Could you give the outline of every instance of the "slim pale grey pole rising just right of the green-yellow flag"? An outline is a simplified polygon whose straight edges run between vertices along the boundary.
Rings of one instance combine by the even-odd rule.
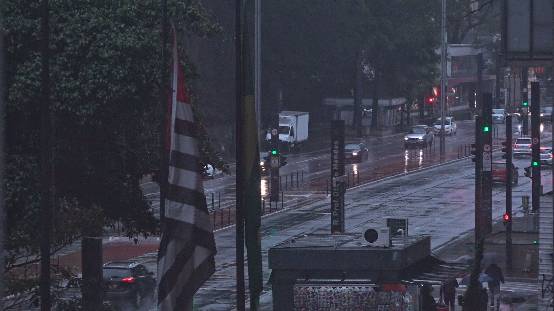
[[[260,0],[254,1],[254,104],[258,129],[261,128],[261,4]],[[261,146],[258,133],[258,146]]]

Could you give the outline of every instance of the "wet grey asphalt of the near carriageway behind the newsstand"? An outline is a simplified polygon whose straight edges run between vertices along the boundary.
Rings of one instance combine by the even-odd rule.
[[[460,134],[459,137],[463,137]],[[472,135],[468,134],[466,139]],[[459,142],[451,143],[455,146]],[[550,146],[551,143],[551,137],[542,139],[545,146]],[[383,151],[376,154],[381,152]],[[500,159],[500,152],[495,152],[493,157]],[[531,192],[530,179],[524,176],[523,170],[529,163],[530,159],[526,157],[514,159],[514,164],[520,168],[519,184],[512,190],[515,212],[521,212],[521,208],[517,207],[521,205],[521,195],[529,195]],[[541,175],[545,191],[552,189],[551,172],[550,167],[543,167]],[[429,235],[432,249],[437,250],[474,228],[474,197],[474,163],[470,158],[422,169],[383,182],[356,186],[349,189],[346,194],[346,231],[361,232],[362,226],[379,224],[383,216],[409,217],[410,234]],[[294,236],[329,233],[329,207],[330,200],[324,199],[301,208],[284,209],[263,217],[261,242],[264,284],[268,281],[270,273],[267,265],[269,248]],[[499,218],[504,212],[505,189],[504,184],[499,183],[493,188],[493,217]],[[235,227],[216,230],[215,235],[218,247],[216,273],[197,292],[195,307],[199,310],[233,310],[236,282]],[[270,287],[264,287],[260,310],[271,310]]]

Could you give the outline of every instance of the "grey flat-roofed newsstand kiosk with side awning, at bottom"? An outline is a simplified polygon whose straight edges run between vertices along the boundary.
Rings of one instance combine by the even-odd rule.
[[[362,245],[360,234],[304,235],[269,249],[273,311],[418,311],[424,285],[469,265],[431,256],[429,236]]]

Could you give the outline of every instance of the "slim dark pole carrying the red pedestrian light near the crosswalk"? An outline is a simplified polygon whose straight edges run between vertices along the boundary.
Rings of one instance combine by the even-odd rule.
[[[512,268],[512,116],[506,117],[506,148],[502,157],[506,157],[506,269]]]

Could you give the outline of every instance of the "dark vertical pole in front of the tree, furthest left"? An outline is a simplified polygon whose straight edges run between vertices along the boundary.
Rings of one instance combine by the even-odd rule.
[[[50,14],[48,0],[41,1],[40,35],[40,311],[50,311],[50,245],[52,244],[52,116],[50,116]]]

